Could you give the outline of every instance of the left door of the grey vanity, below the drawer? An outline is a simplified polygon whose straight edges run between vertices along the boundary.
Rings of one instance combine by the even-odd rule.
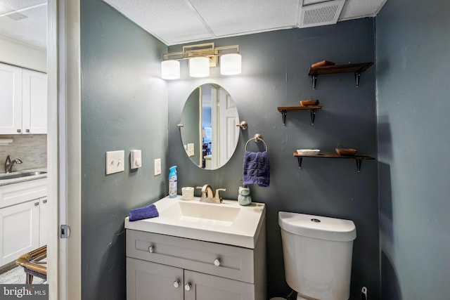
[[[183,292],[183,269],[127,257],[127,300],[183,300]]]

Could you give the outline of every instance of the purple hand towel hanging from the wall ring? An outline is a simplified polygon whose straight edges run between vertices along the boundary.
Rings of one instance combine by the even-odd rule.
[[[243,184],[257,184],[267,187],[270,183],[269,155],[264,152],[245,151]]]

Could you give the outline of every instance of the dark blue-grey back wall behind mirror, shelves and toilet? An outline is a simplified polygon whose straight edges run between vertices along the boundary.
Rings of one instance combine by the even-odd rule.
[[[286,296],[278,211],[350,219],[356,224],[352,264],[351,299],[360,299],[366,286],[369,299],[380,299],[378,244],[378,164],[363,162],[356,171],[354,160],[304,159],[299,169],[293,152],[299,148],[334,152],[336,147],[356,148],[377,156],[375,65],[361,75],[355,86],[354,74],[319,77],[312,89],[308,70],[311,63],[331,60],[337,64],[375,61],[373,18],[339,22],[337,25],[302,30],[281,30],[243,37],[217,39],[216,46],[240,45],[242,74],[219,75],[211,69],[207,79],[188,77],[187,63],[181,62],[181,79],[169,81],[169,164],[178,166],[179,193],[182,186],[209,183],[226,188],[221,195],[236,200],[242,183],[245,143],[260,133],[269,146],[271,183],[269,188],[250,185],[255,202],[266,204],[267,266],[269,296]],[[179,51],[181,46],[170,46]],[[240,120],[248,122],[241,131],[236,152],[220,169],[196,167],[184,153],[179,123],[184,102],[196,86],[212,82],[228,91],[238,107]],[[299,100],[320,100],[311,126],[308,112],[288,112],[283,126],[278,106],[300,105]],[[249,150],[261,145],[249,144]],[[200,195],[196,192],[196,195]]]

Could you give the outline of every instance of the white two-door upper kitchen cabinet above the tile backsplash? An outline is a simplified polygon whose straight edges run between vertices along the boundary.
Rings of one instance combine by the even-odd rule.
[[[46,74],[0,63],[0,134],[47,133]]]

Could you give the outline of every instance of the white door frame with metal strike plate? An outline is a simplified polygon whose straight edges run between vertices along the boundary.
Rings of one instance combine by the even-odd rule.
[[[49,299],[81,299],[80,0],[49,0],[47,25]],[[60,238],[60,225],[70,235]],[[70,284],[69,284],[70,282]]]

